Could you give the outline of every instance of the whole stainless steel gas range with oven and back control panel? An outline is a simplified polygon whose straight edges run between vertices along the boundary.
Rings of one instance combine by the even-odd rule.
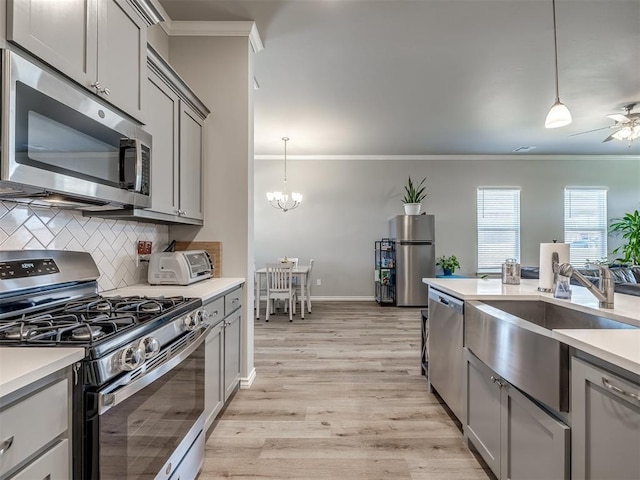
[[[168,479],[204,457],[207,314],[199,298],[99,295],[99,275],[85,252],[0,251],[0,347],[85,349],[73,368],[74,478]]]

